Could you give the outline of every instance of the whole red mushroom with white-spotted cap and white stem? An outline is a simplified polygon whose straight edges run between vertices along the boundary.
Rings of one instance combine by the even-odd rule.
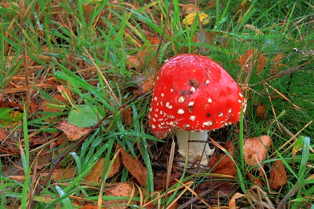
[[[207,143],[188,140],[207,140],[208,131],[236,123],[243,113],[246,99],[235,80],[226,70],[208,57],[180,54],[161,66],[153,87],[149,123],[155,135],[164,139],[173,132],[179,153],[189,153],[191,161],[200,160]],[[203,157],[201,164],[207,164]]]

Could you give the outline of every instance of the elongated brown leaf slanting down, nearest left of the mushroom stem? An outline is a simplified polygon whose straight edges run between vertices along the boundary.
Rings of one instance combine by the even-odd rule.
[[[122,162],[128,171],[135,177],[141,186],[146,186],[147,168],[139,162],[139,160],[133,158],[123,149],[121,149],[121,156]]]

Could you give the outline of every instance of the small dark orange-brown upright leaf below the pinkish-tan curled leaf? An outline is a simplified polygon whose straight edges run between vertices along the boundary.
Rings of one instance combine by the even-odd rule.
[[[280,186],[283,186],[287,183],[287,172],[284,166],[284,163],[280,161],[275,161],[273,166],[271,166],[269,172],[269,185],[273,189],[278,189]]]

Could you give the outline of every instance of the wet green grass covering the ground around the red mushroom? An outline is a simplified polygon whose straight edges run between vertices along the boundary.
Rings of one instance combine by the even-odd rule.
[[[238,170],[236,180],[233,180],[234,189],[228,191],[228,195],[220,198],[220,201],[212,192],[203,197],[204,201],[210,206],[217,206],[218,203],[219,207],[227,206],[235,192],[240,192],[246,196],[240,199],[242,201],[236,201],[236,206],[259,205],[249,195],[257,193],[257,190],[252,189],[254,184],[248,178],[247,171],[261,179],[269,178],[271,165],[280,159],[287,171],[288,182],[280,190],[275,190],[268,188],[266,180],[262,181],[260,188],[269,201],[274,207],[314,207],[311,167],[314,160],[311,151],[314,148],[314,128],[310,124],[314,117],[313,2],[198,1],[198,9],[209,14],[210,20],[202,28],[197,19],[191,25],[181,23],[183,2],[174,0],[171,8],[169,3],[167,0],[141,0],[136,3],[25,0],[22,1],[23,5],[9,0],[1,2],[1,102],[12,101],[24,107],[28,104],[25,88],[27,70],[27,79],[34,90],[28,92],[31,101],[37,105],[47,101],[47,106],[57,111],[36,107],[27,112],[24,108],[23,122],[3,129],[9,136],[0,144],[0,208],[70,209],[91,202],[100,204],[101,200],[119,199],[103,191],[109,184],[134,181],[124,166],[114,176],[109,174],[114,159],[119,158],[116,155],[119,146],[137,157],[148,170],[147,185],[120,199],[131,198],[133,202],[129,203],[130,207],[141,208],[143,199],[147,203],[153,198],[149,195],[156,197],[154,177],[165,171],[164,167],[167,166],[159,161],[160,154],[163,155],[160,148],[167,139],[157,139],[149,128],[147,116],[151,92],[136,92],[143,82],[137,78],[153,75],[156,66],[181,52],[202,53],[221,64],[238,81],[248,98],[244,124],[240,124],[239,131],[233,126],[210,134],[216,141],[231,141],[235,145],[234,161]],[[166,19],[167,14],[169,20]],[[210,40],[195,42],[193,36],[200,31],[211,32],[214,43]],[[22,33],[26,54],[23,53]],[[158,43],[152,42],[158,39],[161,40],[159,53]],[[257,51],[254,53],[261,52],[265,57],[261,71],[258,71],[257,63],[249,68],[251,71],[243,71],[244,68],[238,64],[239,57],[249,49],[255,49]],[[273,57],[278,54],[282,57],[274,61]],[[138,60],[136,65],[130,64],[129,56]],[[300,70],[271,79],[267,84],[254,85],[273,76],[276,73],[274,70],[281,72],[297,66]],[[62,92],[57,86],[64,86],[70,92]],[[55,99],[58,92],[63,93],[64,101]],[[256,113],[259,103],[266,107],[263,118]],[[59,168],[75,168],[76,176],[57,181],[52,178],[53,181],[48,181],[46,186],[41,187],[40,193],[36,193],[38,186],[46,180],[36,174],[48,173],[52,168],[47,161],[40,164],[40,153],[55,161],[76,145],[77,142],[68,139],[55,145],[62,138],[56,126],[76,109],[76,105],[81,104],[89,105],[99,119],[105,116],[105,122],[71,151],[71,155],[66,155],[59,162]],[[127,119],[128,116],[131,117]],[[302,131],[296,136],[298,140],[292,139],[281,148],[291,138],[287,130],[292,135]],[[44,143],[36,146],[29,143],[32,137],[40,135],[44,135]],[[243,137],[262,135],[269,135],[273,142],[269,157],[263,162],[266,163],[265,175],[254,172],[243,163],[243,154],[237,154],[243,150]],[[293,144],[294,141],[299,147]],[[271,154],[273,156],[270,157]],[[102,170],[102,181],[100,184],[86,184],[84,176],[103,157],[104,168],[108,165],[109,169]],[[24,179],[19,181],[6,176],[6,168],[15,167],[12,162],[22,162],[20,167],[23,171],[10,175],[23,176]],[[178,179],[184,183],[194,179],[193,189],[202,182],[210,182],[208,171],[191,174],[190,170],[185,169]],[[225,179],[221,179],[221,182],[225,182]],[[169,187],[169,191],[174,189],[174,192],[167,198],[167,205],[174,203],[178,195],[181,197],[178,204],[192,198],[191,191],[187,188],[179,190],[179,186],[181,184],[177,183]],[[215,189],[219,190],[219,187]],[[143,197],[139,195],[140,191]],[[83,197],[80,199],[81,205],[78,202],[74,204],[78,197]],[[267,202],[261,196],[259,198]],[[160,204],[163,205],[164,201],[165,198],[161,196]],[[243,201],[248,201],[248,204]],[[154,204],[158,204],[157,201]],[[206,205],[204,202],[202,204]]]

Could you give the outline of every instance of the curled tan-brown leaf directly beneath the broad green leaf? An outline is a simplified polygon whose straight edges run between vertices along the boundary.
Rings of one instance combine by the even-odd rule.
[[[76,141],[81,139],[93,127],[78,128],[78,126],[69,123],[67,120],[61,120],[56,128],[63,131],[71,141]]]

